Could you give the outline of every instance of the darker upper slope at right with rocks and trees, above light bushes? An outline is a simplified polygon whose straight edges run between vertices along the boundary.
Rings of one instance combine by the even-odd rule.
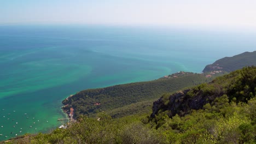
[[[207,104],[213,106],[223,103],[218,99],[228,98],[235,103],[247,103],[255,97],[256,67],[245,67],[228,75],[217,77],[210,83],[203,83],[172,95],[164,95],[154,102],[152,117],[159,112],[168,111],[168,116],[185,116],[193,110],[203,109]],[[217,102],[218,101],[218,102]]]

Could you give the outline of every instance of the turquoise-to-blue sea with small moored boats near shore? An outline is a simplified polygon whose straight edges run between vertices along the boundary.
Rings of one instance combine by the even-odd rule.
[[[256,50],[255,33],[108,26],[0,26],[0,141],[46,133],[78,91],[201,73]]]

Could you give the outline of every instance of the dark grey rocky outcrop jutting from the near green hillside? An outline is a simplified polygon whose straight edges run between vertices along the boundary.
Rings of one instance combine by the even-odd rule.
[[[217,89],[220,90],[220,88]],[[176,114],[184,116],[191,110],[202,109],[203,105],[211,104],[214,99],[224,94],[223,91],[216,91],[216,89],[214,91],[215,93],[209,94],[203,89],[187,89],[170,95],[168,99],[161,97],[153,103],[151,117],[154,118],[160,110],[168,111],[168,116],[173,117]]]

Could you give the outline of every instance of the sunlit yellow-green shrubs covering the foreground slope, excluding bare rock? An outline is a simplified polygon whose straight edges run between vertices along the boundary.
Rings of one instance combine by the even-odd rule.
[[[174,109],[175,114],[165,108],[172,107],[173,97],[177,103],[182,99],[165,94],[154,117],[145,113],[113,119],[100,112],[96,118],[80,116],[66,129],[10,143],[256,143],[255,85],[256,67],[246,67],[184,90],[185,102],[205,99],[200,109],[185,103],[188,111]]]

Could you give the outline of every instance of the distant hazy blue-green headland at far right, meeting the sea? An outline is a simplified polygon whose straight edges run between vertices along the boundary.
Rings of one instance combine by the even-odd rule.
[[[229,73],[231,71],[252,65],[256,65],[256,51],[244,52],[233,57],[224,57],[219,59],[213,64],[207,65],[205,69],[203,69],[203,73],[219,70]]]

